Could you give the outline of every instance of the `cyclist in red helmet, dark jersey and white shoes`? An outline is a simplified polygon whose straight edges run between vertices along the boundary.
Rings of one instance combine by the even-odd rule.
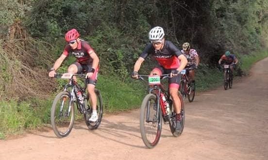
[[[68,44],[50,69],[49,76],[54,77],[56,70],[61,66],[67,56],[74,55],[77,61],[68,67],[68,73],[76,74],[86,72],[86,77],[88,78],[87,91],[93,108],[92,116],[89,118],[89,121],[96,122],[98,120],[97,96],[94,92],[94,88],[99,71],[99,57],[86,41],[80,39],[80,34],[76,29],[68,31],[65,34],[65,40]]]

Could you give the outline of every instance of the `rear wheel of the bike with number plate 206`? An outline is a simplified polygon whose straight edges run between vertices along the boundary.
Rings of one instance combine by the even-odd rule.
[[[182,128],[180,131],[176,131],[176,113],[174,111],[174,107],[172,105],[171,108],[171,119],[169,121],[169,128],[171,133],[173,134],[174,137],[179,137],[184,130],[184,122],[185,122],[185,109],[184,109],[184,101],[183,101],[183,96],[181,95],[180,92],[178,92],[178,96],[181,100],[181,106],[182,106],[182,110],[181,110],[181,114],[182,114]]]

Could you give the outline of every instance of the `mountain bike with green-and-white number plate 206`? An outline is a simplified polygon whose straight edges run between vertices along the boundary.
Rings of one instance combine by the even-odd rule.
[[[176,113],[172,106],[172,99],[169,91],[165,90],[161,84],[161,80],[170,77],[170,74],[161,76],[139,75],[140,80],[144,77],[149,81],[149,94],[144,97],[140,107],[140,131],[144,144],[148,148],[153,148],[158,144],[161,136],[162,121],[164,124],[169,124],[169,128],[174,137],[182,134],[184,129],[184,102],[183,97],[178,92],[181,100],[182,128],[180,131],[175,131],[176,128]]]

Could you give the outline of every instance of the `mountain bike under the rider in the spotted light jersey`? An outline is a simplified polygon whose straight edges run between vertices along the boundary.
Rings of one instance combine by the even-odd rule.
[[[195,68],[185,68],[181,71],[181,83],[179,91],[181,92],[183,99],[185,99],[186,96],[188,96],[189,102],[192,102],[195,98],[195,81],[193,80],[191,83],[189,83],[189,78],[187,74],[190,70],[194,70]]]

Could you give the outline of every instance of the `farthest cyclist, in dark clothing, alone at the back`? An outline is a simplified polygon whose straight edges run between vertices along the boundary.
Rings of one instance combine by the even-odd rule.
[[[237,58],[234,56],[234,54],[231,54],[230,51],[226,51],[225,54],[223,54],[220,59],[218,60],[218,64],[234,64],[230,66],[230,70],[232,71],[232,75],[234,72],[234,67],[236,66],[236,64],[238,63]]]

